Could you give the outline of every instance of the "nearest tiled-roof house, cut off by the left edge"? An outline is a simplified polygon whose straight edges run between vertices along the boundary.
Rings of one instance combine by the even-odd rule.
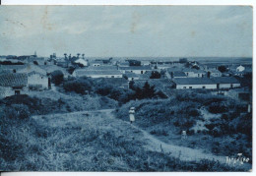
[[[28,75],[8,73],[0,75],[0,97],[28,94]]]

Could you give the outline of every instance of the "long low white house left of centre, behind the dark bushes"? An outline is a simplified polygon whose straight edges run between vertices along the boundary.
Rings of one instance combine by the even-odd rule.
[[[122,78],[123,75],[118,70],[105,70],[105,71],[89,71],[84,69],[75,70],[74,77],[91,77],[91,78]]]

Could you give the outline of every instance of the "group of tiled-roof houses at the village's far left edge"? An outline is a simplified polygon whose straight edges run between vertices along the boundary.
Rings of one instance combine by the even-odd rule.
[[[0,97],[51,88],[50,73],[55,70],[62,70],[68,77],[65,69],[55,65],[0,65]]]

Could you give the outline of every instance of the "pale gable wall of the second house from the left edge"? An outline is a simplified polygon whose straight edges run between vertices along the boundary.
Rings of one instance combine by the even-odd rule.
[[[48,88],[48,78],[40,76],[39,74],[33,74],[28,77],[28,85],[40,86],[41,88]]]

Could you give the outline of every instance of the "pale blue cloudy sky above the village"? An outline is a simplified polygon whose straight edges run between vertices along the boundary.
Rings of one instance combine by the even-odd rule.
[[[250,6],[0,6],[0,55],[252,57]]]

